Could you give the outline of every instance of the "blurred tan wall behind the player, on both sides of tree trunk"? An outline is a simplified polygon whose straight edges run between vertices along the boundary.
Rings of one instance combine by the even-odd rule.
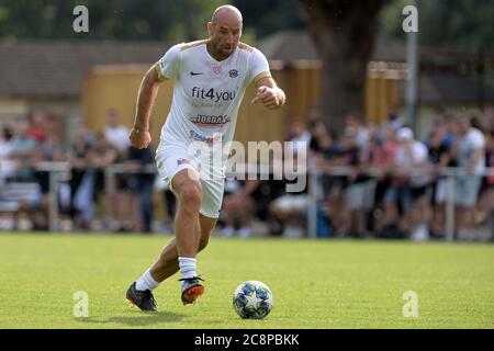
[[[105,124],[105,112],[115,109],[121,122],[132,126],[135,103],[141,80],[148,66],[103,66],[94,67],[86,77],[82,89],[82,110],[93,131]],[[279,111],[268,111],[260,104],[250,105],[256,93],[250,86],[238,113],[235,139],[272,141],[283,139],[294,120],[306,120],[316,107],[319,91],[319,68],[299,66],[284,69],[272,68],[273,78],[284,89],[287,106]],[[165,81],[160,88],[151,114],[153,145],[156,147],[162,123],[171,104],[172,81]],[[396,83],[383,78],[369,78],[367,83],[366,113],[375,122],[385,118],[386,106],[396,103]]]

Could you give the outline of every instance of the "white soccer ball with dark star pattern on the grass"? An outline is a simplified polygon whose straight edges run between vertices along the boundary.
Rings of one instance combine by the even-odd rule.
[[[272,293],[258,281],[247,281],[238,285],[233,296],[234,309],[244,319],[262,319],[272,308]]]

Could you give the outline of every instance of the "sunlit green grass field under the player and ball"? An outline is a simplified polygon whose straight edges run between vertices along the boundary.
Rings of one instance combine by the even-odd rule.
[[[128,284],[169,239],[0,234],[0,328],[494,328],[493,245],[213,237],[195,306],[181,305],[176,275],[155,293],[159,313],[131,308]],[[271,287],[265,320],[235,314],[244,280]],[[88,318],[72,315],[78,291]],[[418,317],[403,316],[406,291]]]

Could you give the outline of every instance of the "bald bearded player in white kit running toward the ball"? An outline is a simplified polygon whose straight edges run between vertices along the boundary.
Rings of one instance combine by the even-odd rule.
[[[127,290],[127,299],[143,310],[156,310],[153,296],[159,283],[180,271],[181,301],[194,304],[204,293],[197,273],[197,254],[214,228],[224,189],[224,166],[228,150],[221,149],[221,162],[212,176],[203,177],[201,155],[217,155],[217,143],[232,141],[242,99],[250,83],[257,87],[251,103],[279,109],[284,92],[271,78],[266,57],[239,42],[242,13],[232,5],[214,11],[207,23],[210,38],[171,47],[145,75],[137,98],[137,111],[130,139],[146,148],[150,143],[149,115],[159,83],[175,80],[173,99],[156,151],[159,176],[178,200],[175,238],[162,249],[156,263]],[[192,147],[193,146],[193,147]],[[225,157],[226,156],[226,157]],[[207,165],[209,167],[210,165]],[[211,176],[211,174],[209,174]]]

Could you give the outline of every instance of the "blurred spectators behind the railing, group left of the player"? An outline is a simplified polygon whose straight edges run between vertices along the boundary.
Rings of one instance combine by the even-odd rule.
[[[0,205],[9,201],[9,184],[37,184],[38,196],[16,199],[20,208],[15,216],[25,214],[32,230],[47,230],[52,169],[50,163],[42,165],[64,162],[69,167],[67,179],[58,184],[57,210],[60,218],[70,222],[70,229],[151,231],[155,174],[145,167],[154,165],[153,150],[130,145],[128,129],[113,110],[108,111],[106,124],[97,133],[79,120],[68,145],[61,126],[57,115],[33,111],[25,121],[2,127]],[[123,168],[108,177],[109,167],[114,165]]]

